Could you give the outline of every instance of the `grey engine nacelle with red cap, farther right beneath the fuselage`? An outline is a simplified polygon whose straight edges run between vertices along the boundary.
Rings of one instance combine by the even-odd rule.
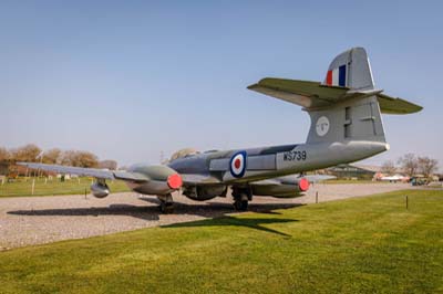
[[[303,196],[309,189],[306,178],[281,177],[272,181],[257,182],[250,185],[254,196],[271,196],[276,198],[295,198]]]

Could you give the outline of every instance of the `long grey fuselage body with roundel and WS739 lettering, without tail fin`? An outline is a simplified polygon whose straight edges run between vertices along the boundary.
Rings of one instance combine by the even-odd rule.
[[[389,149],[385,143],[343,141],[282,145],[208,151],[168,164],[177,172],[212,176],[224,183],[241,183],[361,160]],[[236,156],[239,155],[238,158]],[[237,162],[235,160],[238,160]],[[238,164],[238,169],[236,169]],[[237,172],[238,171],[238,172]]]

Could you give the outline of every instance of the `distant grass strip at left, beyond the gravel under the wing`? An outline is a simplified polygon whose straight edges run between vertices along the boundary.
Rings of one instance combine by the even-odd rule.
[[[61,182],[59,179],[48,180],[44,178],[35,178],[34,196],[53,196],[53,195],[81,195],[86,189],[90,192],[92,178],[71,179]],[[130,189],[123,181],[106,181],[111,192],[123,192]],[[32,178],[19,179],[14,182],[0,182],[0,198],[16,196],[32,196]]]

